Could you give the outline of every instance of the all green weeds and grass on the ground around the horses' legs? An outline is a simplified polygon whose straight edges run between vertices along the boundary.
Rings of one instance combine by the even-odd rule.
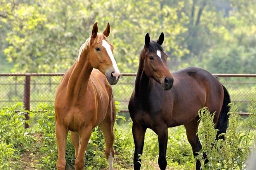
[[[116,109],[119,105],[116,102]],[[247,157],[256,148],[256,101],[249,106],[249,117],[241,118],[234,104],[231,104],[229,127],[224,134],[226,140],[215,140],[213,114],[206,108],[199,112],[201,126],[199,137],[202,150],[198,159],[202,160],[202,152],[208,156],[209,163],[203,169],[243,169],[247,165]],[[15,110],[22,110],[15,112]],[[36,111],[37,110],[37,111]],[[39,111],[38,111],[39,110]],[[5,107],[0,110],[0,169],[24,169],[24,164],[36,169],[55,169],[57,161],[57,142],[55,138],[54,108],[41,104],[29,112],[31,117],[29,129],[24,129],[24,110],[21,104]],[[15,118],[15,119],[14,119]],[[119,114],[114,125],[114,167],[117,169],[132,169],[133,137],[131,120]],[[184,127],[168,129],[167,147],[168,168],[173,170],[194,169],[192,150],[187,141]],[[102,169],[107,167],[104,155],[105,142],[100,128],[93,129],[85,155],[86,169]],[[24,156],[29,155],[31,162],[24,162]],[[145,134],[142,169],[156,169],[158,158],[157,135],[152,130]],[[74,147],[70,135],[67,137],[66,166],[74,168]],[[203,164],[202,164],[203,165]]]

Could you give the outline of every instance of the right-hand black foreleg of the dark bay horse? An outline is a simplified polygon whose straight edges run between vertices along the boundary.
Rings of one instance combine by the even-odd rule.
[[[159,144],[159,157],[158,165],[161,170],[165,170],[167,166],[166,150],[168,142],[168,129],[167,127],[157,128],[158,144]]]

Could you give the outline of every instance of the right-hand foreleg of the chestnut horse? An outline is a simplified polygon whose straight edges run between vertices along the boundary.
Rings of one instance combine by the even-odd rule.
[[[86,151],[91,134],[92,134],[92,126],[86,126],[84,128],[80,128],[79,148],[78,148],[78,154],[75,160],[76,170],[82,170],[84,167],[85,151]]]

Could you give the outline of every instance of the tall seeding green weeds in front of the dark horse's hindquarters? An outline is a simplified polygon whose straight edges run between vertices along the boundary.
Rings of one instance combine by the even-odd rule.
[[[214,114],[211,114],[206,107],[199,110],[201,126],[198,134],[201,136],[202,150],[199,151],[197,159],[201,161],[202,169],[244,169],[248,164],[249,153],[256,148],[255,100],[252,100],[252,104],[249,106],[250,116],[245,120],[239,116],[234,103],[229,105],[231,109],[227,133],[220,134],[225,136],[225,141],[223,139],[215,140],[217,130],[214,129],[213,124]],[[245,129],[244,131],[241,131],[241,126],[242,129]],[[203,153],[206,153],[209,160],[205,165],[203,164]]]

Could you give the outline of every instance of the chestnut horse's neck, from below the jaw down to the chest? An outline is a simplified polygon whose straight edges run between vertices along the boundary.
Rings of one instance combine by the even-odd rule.
[[[80,58],[75,61],[73,66],[68,70],[67,92],[73,97],[78,97],[85,91],[93,67],[89,61],[89,49],[83,51]]]

